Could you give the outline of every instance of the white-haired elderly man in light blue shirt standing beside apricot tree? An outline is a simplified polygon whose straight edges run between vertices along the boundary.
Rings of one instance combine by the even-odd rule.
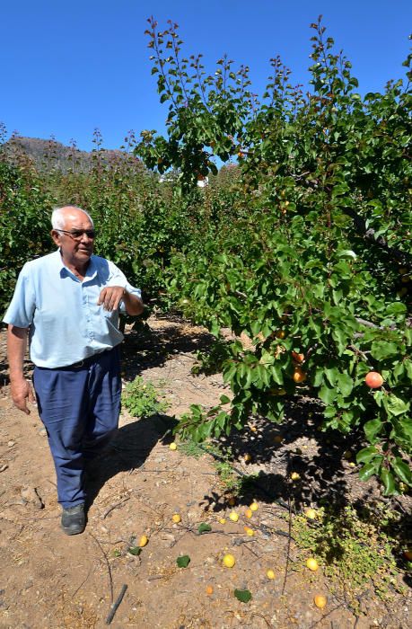
[[[84,468],[118,428],[118,311],[141,314],[140,291],[110,261],[93,255],[96,233],[81,208],[54,210],[57,251],[27,262],[4,315],[14,405],[34,402],[23,376],[29,332],[39,415],[56,466],[61,526],[85,527]]]

